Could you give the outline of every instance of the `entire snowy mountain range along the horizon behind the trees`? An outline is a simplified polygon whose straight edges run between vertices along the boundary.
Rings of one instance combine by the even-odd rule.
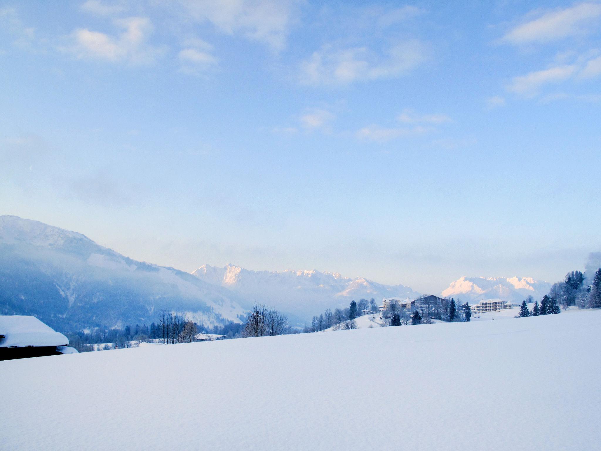
[[[551,284],[532,278],[461,277],[442,292],[462,302],[540,299]],[[192,274],[138,262],[81,233],[17,216],[0,216],[0,314],[33,314],[53,328],[79,330],[150,324],[163,306],[205,325],[243,322],[254,302],[303,324],[353,299],[419,296],[336,272],[252,271],[200,266]]]

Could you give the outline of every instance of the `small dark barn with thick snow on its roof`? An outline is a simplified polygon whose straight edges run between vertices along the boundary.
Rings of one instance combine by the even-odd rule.
[[[69,339],[35,316],[0,316],[0,360],[73,354]]]

